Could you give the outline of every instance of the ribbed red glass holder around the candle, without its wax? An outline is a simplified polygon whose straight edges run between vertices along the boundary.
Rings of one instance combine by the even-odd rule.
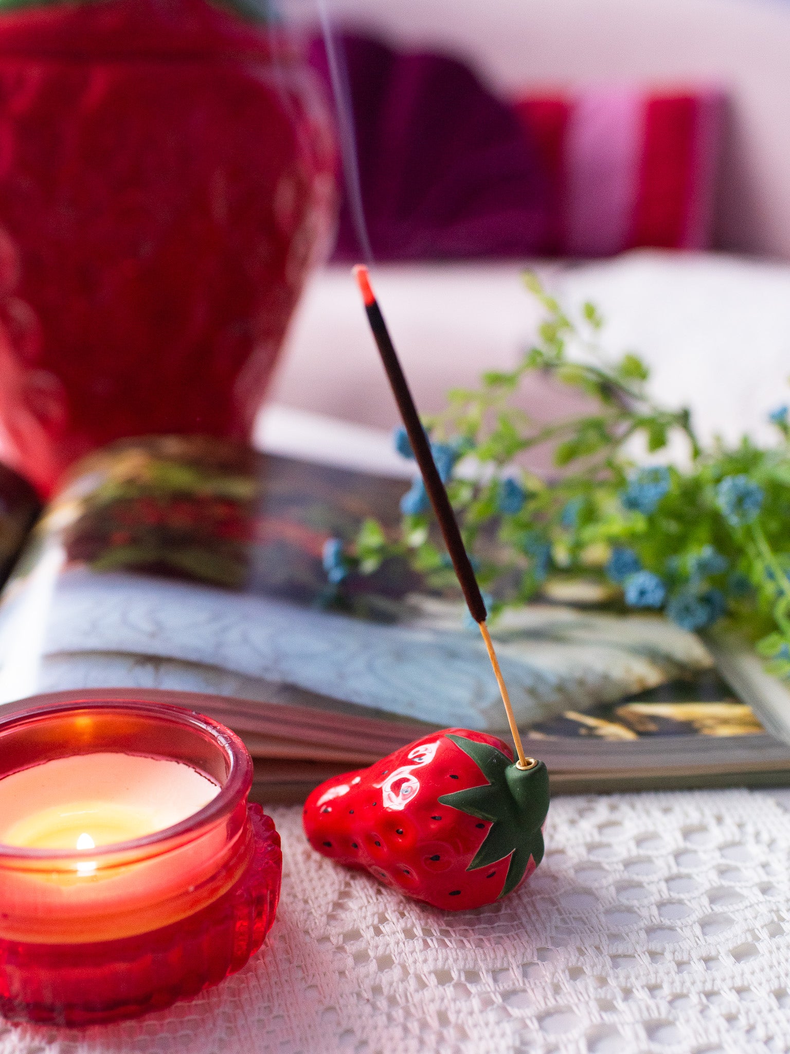
[[[92,851],[95,871],[82,878],[74,851],[0,844],[0,1012],[8,1020],[84,1026],[161,1010],[240,970],[277,911],[280,839],[248,803],[252,760],[241,741],[181,706],[90,695],[61,692],[0,722],[0,778],[115,750],[189,763],[220,790],[181,823]],[[185,857],[194,871],[181,882],[173,876],[186,874]],[[130,875],[134,911],[120,900],[112,914],[92,915],[90,903],[75,912],[61,896],[64,886],[85,882],[90,892]],[[20,889],[26,896],[15,898]],[[85,940],[92,929],[102,939]]]

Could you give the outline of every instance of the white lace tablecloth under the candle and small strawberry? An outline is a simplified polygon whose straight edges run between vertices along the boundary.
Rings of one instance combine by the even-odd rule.
[[[788,793],[559,798],[498,904],[442,915],[304,841],[262,952],[219,989],[0,1054],[641,1054],[790,1050]]]

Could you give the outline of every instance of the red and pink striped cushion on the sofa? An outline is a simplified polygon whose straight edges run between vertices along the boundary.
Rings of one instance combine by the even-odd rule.
[[[707,249],[725,102],[712,86],[514,99],[552,176],[550,252]]]

